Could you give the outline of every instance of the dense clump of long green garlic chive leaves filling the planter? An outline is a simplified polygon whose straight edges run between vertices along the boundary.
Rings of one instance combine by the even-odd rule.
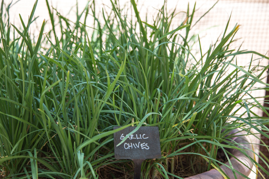
[[[101,24],[94,1],[74,23],[46,3],[52,29],[44,35],[44,21],[37,40],[29,33],[37,2],[28,22],[21,18],[21,29],[9,24],[4,13],[9,6],[4,10],[1,4],[0,175],[98,179],[107,166],[132,170],[131,165],[124,168],[126,160],[114,159],[112,134],[122,128],[113,126],[159,127],[163,157],[143,163],[144,179],[180,178],[174,162],[186,167],[184,158],[193,174],[218,166],[219,149],[238,148],[226,138],[232,129],[254,128],[269,137],[261,131],[268,131],[268,118],[252,109],[268,113],[249,94],[263,83],[269,66],[237,66],[236,57],[269,58],[230,49],[238,25],[196,59],[191,47],[200,39],[189,37],[195,7],[172,30],[177,13],[168,13],[165,5],[149,24],[140,19],[134,0],[131,21],[112,2]],[[90,11],[93,25],[86,24]],[[62,29],[60,36],[56,27]],[[229,68],[234,70],[227,73]]]

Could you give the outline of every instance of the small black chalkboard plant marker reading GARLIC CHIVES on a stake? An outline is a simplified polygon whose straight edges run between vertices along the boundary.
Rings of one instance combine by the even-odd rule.
[[[118,128],[120,127],[114,127],[114,129]],[[135,128],[127,127],[114,133],[114,152],[115,159],[134,161],[134,179],[140,179],[143,161],[161,158],[159,128],[156,126],[140,127],[132,133]],[[124,142],[118,145],[123,140]]]

